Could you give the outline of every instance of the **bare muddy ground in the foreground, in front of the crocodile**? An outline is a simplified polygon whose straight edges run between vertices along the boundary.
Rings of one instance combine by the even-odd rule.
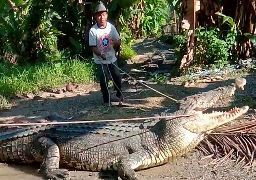
[[[256,171],[248,169],[234,169],[231,165],[219,168],[203,167],[210,160],[201,160],[203,156],[198,152],[187,154],[176,162],[160,167],[138,171],[141,180],[255,180]],[[37,168],[28,165],[0,165],[1,180],[43,180]],[[72,171],[71,180],[111,180],[101,178],[99,173],[86,171]]]

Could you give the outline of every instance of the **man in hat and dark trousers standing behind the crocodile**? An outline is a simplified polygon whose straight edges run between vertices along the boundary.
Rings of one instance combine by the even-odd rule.
[[[108,11],[104,5],[99,4],[94,13],[97,23],[89,31],[89,45],[92,46],[94,62],[97,65],[100,89],[104,103],[117,102],[118,100],[123,100],[123,96],[121,93],[121,75],[119,69],[115,67],[117,65],[117,58],[114,48],[119,49],[121,38],[115,26],[107,22]],[[118,98],[117,100],[111,99],[111,102],[109,102],[110,93],[107,86],[109,75],[113,78]]]

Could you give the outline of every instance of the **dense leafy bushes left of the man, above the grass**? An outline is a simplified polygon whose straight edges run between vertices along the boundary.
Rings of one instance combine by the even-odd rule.
[[[59,61],[63,53],[89,57],[82,7],[65,0],[8,0],[0,3],[0,54],[20,63]],[[9,57],[9,56],[7,56]],[[8,59],[8,58],[7,58]]]

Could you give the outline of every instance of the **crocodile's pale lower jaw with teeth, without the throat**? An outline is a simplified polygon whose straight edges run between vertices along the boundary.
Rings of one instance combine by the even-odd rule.
[[[183,127],[194,133],[204,133],[226,124],[245,114],[249,106],[232,108],[228,112],[213,112],[191,115],[182,119]]]

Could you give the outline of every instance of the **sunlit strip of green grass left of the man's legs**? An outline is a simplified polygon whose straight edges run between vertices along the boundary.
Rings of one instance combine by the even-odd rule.
[[[17,93],[38,93],[67,82],[88,84],[95,79],[93,63],[78,59],[15,66],[0,63],[0,95],[4,103]],[[1,104],[1,102],[0,102]]]

